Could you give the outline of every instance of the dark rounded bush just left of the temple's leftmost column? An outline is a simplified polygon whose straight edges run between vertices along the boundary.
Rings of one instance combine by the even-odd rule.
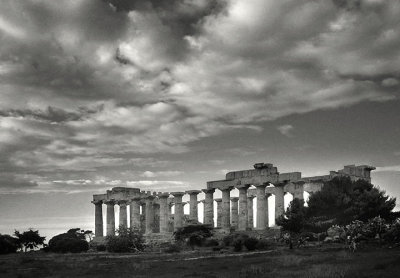
[[[80,229],[71,229],[66,233],[54,236],[50,239],[48,246],[48,251],[56,253],[80,253],[87,250],[89,250],[89,243]]]

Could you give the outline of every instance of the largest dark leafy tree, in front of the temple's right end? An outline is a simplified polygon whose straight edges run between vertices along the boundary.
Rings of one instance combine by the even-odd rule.
[[[325,182],[321,191],[315,192],[308,200],[307,216],[322,220],[334,219],[339,225],[354,220],[367,221],[380,216],[392,220],[396,199],[371,183],[348,177],[337,177]]]

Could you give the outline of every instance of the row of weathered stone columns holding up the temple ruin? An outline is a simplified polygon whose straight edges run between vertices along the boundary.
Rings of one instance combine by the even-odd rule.
[[[256,186],[256,199],[257,199],[257,223],[256,229],[263,230],[268,225],[268,201],[265,194],[267,184]],[[253,227],[253,196],[247,196],[249,185],[237,187],[239,190],[239,197],[230,197],[230,191],[233,187],[222,189],[222,198],[214,199],[213,195],[215,189],[203,189],[205,193],[204,199],[204,224],[214,225],[214,201],[217,202],[217,227],[229,231],[231,226],[239,231],[245,231]],[[174,230],[183,226],[183,203],[182,197],[189,194],[190,214],[189,219],[197,220],[198,218],[198,201],[197,195],[200,190],[191,190],[185,192],[172,192],[174,197],[175,214],[174,214]],[[171,208],[168,204],[169,193],[159,194],[160,204],[160,232],[168,232],[168,220],[171,214]],[[145,231],[149,233],[154,227],[154,199],[155,196],[150,195],[144,198],[145,204],[143,206],[143,214],[145,215]],[[140,206],[141,198],[133,198],[130,200],[130,223],[131,227],[140,229]],[[103,215],[102,203],[103,201],[93,201],[95,204],[95,235],[103,236]],[[231,206],[232,203],[232,206]],[[106,216],[106,234],[114,235],[115,233],[115,216],[114,205],[120,206],[119,223],[120,225],[127,226],[127,205],[128,201],[114,201],[106,200],[104,204],[107,206]],[[275,187],[275,215],[279,216],[284,213],[284,190],[283,186]],[[231,219],[232,215],[232,219]]]

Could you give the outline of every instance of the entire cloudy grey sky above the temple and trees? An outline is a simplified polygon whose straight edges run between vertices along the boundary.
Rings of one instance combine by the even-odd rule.
[[[398,0],[1,2],[0,232],[255,162],[400,197]]]

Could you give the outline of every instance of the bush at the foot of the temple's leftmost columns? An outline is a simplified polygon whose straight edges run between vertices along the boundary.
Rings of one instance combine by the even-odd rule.
[[[143,251],[142,233],[137,229],[120,226],[117,235],[106,237],[106,248],[115,253]]]

